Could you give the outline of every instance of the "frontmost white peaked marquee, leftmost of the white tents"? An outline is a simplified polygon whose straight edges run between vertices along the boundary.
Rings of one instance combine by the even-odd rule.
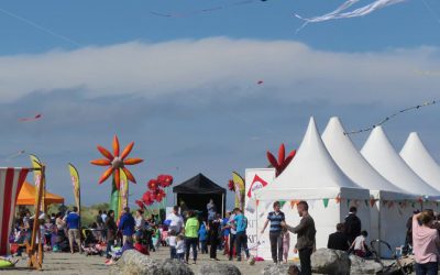
[[[370,191],[350,180],[334,163],[318,133],[314,118],[310,119],[293,162],[275,178],[274,184],[255,191],[255,197],[260,201],[257,211],[263,206],[267,208],[267,201],[290,201],[283,207],[290,226],[298,224],[300,220],[296,209],[290,207],[292,202],[308,201],[317,228],[317,249],[327,246],[328,235],[336,231],[337,223],[344,220],[350,206],[358,207],[362,227],[370,231]],[[271,208],[263,209],[268,210]],[[295,243],[296,237],[290,238],[290,241]]]

